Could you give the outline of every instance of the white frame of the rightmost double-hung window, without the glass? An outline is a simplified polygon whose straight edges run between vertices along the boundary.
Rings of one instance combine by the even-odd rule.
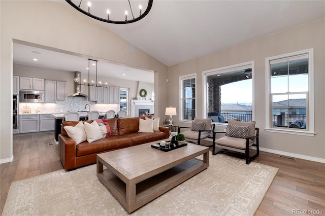
[[[287,128],[287,127],[273,127],[272,125],[272,95],[271,94],[271,62],[273,61],[285,61],[298,56],[308,55],[308,92],[306,94],[306,116],[309,121],[309,125],[306,129],[296,129],[296,128]],[[297,134],[297,135],[306,135],[314,136],[314,49],[306,49],[297,52],[291,52],[286,54],[281,54],[277,56],[268,57],[265,59],[265,82],[266,82],[266,126],[265,129],[267,132],[276,132],[276,133],[287,133],[287,134]],[[288,92],[289,93],[289,92]],[[290,95],[290,94],[288,94]]]

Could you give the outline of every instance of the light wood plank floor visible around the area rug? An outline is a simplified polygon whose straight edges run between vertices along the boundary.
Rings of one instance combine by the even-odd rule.
[[[58,145],[52,145],[53,138],[52,133],[13,138],[14,160],[0,165],[0,213],[13,181],[62,169]],[[209,142],[203,141],[202,144]],[[266,152],[261,152],[254,162],[279,168],[255,215],[302,214],[298,210],[318,210],[322,211],[319,215],[325,215],[325,164]],[[317,215],[317,212],[305,214]]]

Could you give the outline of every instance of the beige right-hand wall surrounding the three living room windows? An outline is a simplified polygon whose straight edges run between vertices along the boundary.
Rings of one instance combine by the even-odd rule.
[[[325,116],[324,116],[324,74],[325,74],[325,19],[318,20],[296,28],[269,35],[254,41],[215,52],[200,58],[192,59],[169,67],[169,101],[172,106],[179,107],[179,76],[197,73],[197,95],[202,95],[202,74],[205,70],[234,65],[247,61],[255,61],[254,101],[255,121],[260,128],[259,143],[262,148],[304,155],[319,159],[325,158]],[[266,26],[267,27],[267,26]],[[314,101],[315,101],[315,136],[302,136],[265,131],[265,58],[280,54],[314,48]],[[197,97],[198,117],[204,116],[203,98]],[[173,122],[178,122],[173,117]],[[276,151],[274,151],[276,150]],[[324,161],[324,160],[323,160]]]

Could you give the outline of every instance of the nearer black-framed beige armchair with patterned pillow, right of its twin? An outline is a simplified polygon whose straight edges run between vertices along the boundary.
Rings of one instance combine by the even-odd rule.
[[[235,153],[244,155],[246,164],[249,164],[252,160],[258,157],[259,128],[255,127],[255,122],[238,122],[229,120],[226,132],[214,132],[214,134],[216,133],[225,133],[225,136],[213,141],[213,155],[219,153]],[[256,154],[249,155],[249,149],[252,146],[256,147]],[[216,147],[220,148],[217,152],[215,152]]]

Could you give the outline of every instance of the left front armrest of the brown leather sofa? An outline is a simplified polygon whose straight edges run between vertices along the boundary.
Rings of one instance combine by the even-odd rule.
[[[59,155],[64,169],[76,168],[76,142],[69,136],[59,134]]]

